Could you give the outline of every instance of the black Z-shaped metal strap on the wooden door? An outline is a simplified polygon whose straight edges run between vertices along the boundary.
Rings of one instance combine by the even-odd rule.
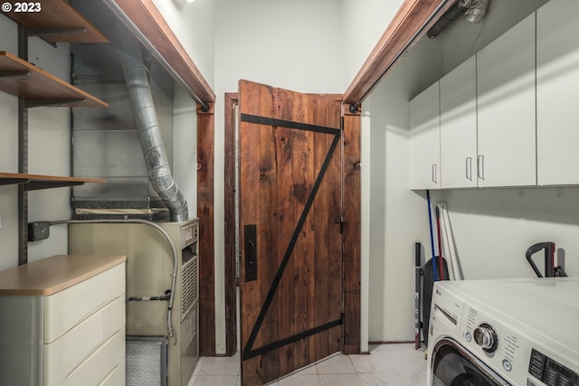
[[[291,236],[291,240],[289,240],[289,245],[288,245],[288,248],[286,249],[286,251],[283,255],[283,259],[281,260],[280,268],[278,268],[278,271],[275,275],[275,278],[273,279],[273,283],[271,284],[270,290],[268,291],[268,295],[267,295],[267,297],[265,297],[265,301],[263,302],[263,306],[261,306],[260,314],[257,316],[257,319],[255,320],[255,325],[253,325],[253,328],[252,328],[252,334],[250,334],[249,339],[247,340],[247,344],[245,344],[245,347],[243,348],[242,360],[247,361],[247,360],[252,359],[256,356],[259,356],[263,353],[269,353],[272,350],[279,349],[280,347],[282,347],[284,345],[292,344],[294,342],[299,341],[300,339],[304,339],[304,338],[307,338],[308,336],[329,330],[330,328],[336,327],[337,325],[342,325],[342,317],[340,316],[340,319],[337,319],[337,320],[332,321],[332,322],[328,322],[324,325],[319,325],[318,327],[311,328],[311,329],[304,331],[304,332],[301,332],[299,334],[294,334],[294,335],[289,336],[287,338],[283,338],[278,342],[274,342],[271,344],[265,344],[265,345],[258,347],[258,348],[253,348],[253,344],[255,344],[255,339],[257,338],[257,334],[259,333],[261,325],[263,324],[263,320],[265,319],[265,315],[267,314],[268,309],[271,306],[271,301],[273,300],[273,296],[275,295],[278,287],[280,286],[281,277],[283,276],[283,272],[285,271],[286,267],[288,266],[288,262],[289,262],[289,258],[291,257],[291,253],[293,252],[293,249],[295,248],[296,243],[298,242],[299,234],[301,233],[301,230],[302,230],[303,225],[306,221],[306,218],[308,217],[309,209],[311,208],[311,205],[314,202],[316,194],[318,193],[319,185],[321,184],[322,180],[324,179],[324,174],[326,174],[327,167],[329,166],[330,160],[331,160],[332,156],[334,155],[334,152],[336,151],[336,147],[337,147],[337,144],[339,143],[339,139],[340,139],[341,130],[339,128],[309,125],[306,123],[292,122],[289,120],[276,119],[276,118],[260,117],[260,116],[250,115],[250,114],[242,114],[241,118],[242,118],[242,122],[256,123],[259,125],[267,125],[267,126],[274,126],[274,127],[295,128],[295,129],[299,129],[299,130],[308,130],[308,131],[314,131],[317,133],[331,134],[334,136],[332,144],[330,145],[329,150],[327,152],[326,159],[324,160],[324,163],[322,164],[321,169],[319,170],[319,174],[318,174],[318,177],[316,178],[316,182],[314,183],[312,190],[309,193],[308,201],[306,202],[306,205],[304,206],[303,212],[301,212],[301,215],[299,216],[299,221],[298,221],[298,224],[296,225],[295,230],[293,231],[293,235]]]

